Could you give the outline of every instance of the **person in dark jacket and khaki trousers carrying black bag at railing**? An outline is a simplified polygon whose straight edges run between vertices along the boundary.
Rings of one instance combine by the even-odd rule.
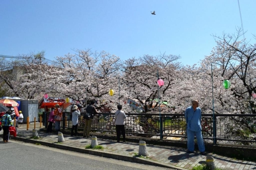
[[[92,119],[93,119],[94,115],[97,114],[94,104],[95,104],[95,102],[91,101],[90,105],[86,107],[86,113],[84,116],[84,131],[83,131],[84,138],[90,137],[89,134],[91,132]],[[86,117],[86,114],[88,115],[88,117]]]

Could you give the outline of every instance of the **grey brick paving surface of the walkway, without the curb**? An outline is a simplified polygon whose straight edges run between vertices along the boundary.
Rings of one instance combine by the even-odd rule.
[[[0,132],[2,134],[2,131]],[[49,134],[46,132],[41,132],[38,130],[39,139],[38,142],[49,142],[51,144],[56,144],[58,141],[58,135]],[[19,128],[20,138],[30,139],[32,136],[32,129],[26,130],[25,128]],[[65,142],[60,145],[65,145],[69,147],[85,148],[86,145],[91,144],[91,139],[82,138],[80,136],[71,137],[68,135],[63,135]],[[34,140],[34,139],[30,139]],[[135,156],[139,152],[139,145],[132,142],[120,142],[117,143],[113,140],[108,139],[98,139],[98,144],[103,146],[103,152],[108,152],[112,154]],[[166,165],[171,165],[175,167],[192,169],[194,166],[198,166],[205,162],[205,156],[199,153],[186,153],[184,148],[177,148],[172,146],[160,146],[160,145],[146,145],[147,151],[149,153],[148,159],[151,161],[161,162]],[[249,170],[256,169],[256,163],[250,161],[235,160],[228,157],[219,156],[212,153],[207,153],[208,156],[214,158],[214,163],[216,167],[225,170]],[[146,159],[146,158],[145,158]]]

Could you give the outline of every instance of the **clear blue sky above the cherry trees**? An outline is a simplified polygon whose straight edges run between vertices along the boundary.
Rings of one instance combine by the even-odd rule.
[[[256,1],[239,3],[245,38],[252,39]],[[0,55],[44,50],[54,60],[91,48],[127,60],[165,52],[184,65],[211,53],[212,34],[241,26],[237,0],[1,0],[0,23]]]

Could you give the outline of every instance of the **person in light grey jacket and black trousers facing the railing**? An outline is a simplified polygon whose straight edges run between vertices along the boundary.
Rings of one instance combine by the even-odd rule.
[[[120,142],[120,132],[122,133],[123,136],[123,141],[125,142],[125,112],[122,111],[122,105],[117,105],[117,111],[115,113],[115,118],[116,118],[116,131],[117,131],[117,142]]]

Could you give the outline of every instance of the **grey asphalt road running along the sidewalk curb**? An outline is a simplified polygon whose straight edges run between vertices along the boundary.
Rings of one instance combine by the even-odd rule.
[[[166,170],[11,140],[0,141],[0,169],[7,170]]]

